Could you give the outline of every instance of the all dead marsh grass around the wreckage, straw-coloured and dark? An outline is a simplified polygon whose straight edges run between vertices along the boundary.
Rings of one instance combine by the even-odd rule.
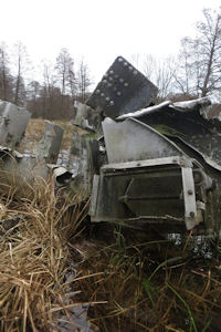
[[[67,147],[73,127],[63,125]],[[31,121],[27,138],[33,144],[42,134],[43,121]],[[63,332],[64,321],[78,331],[72,310],[82,303],[90,331],[219,331],[221,260],[213,242],[200,248],[188,237],[175,245],[92,226],[88,205],[70,203],[53,178],[27,187],[9,179],[1,174],[0,331]]]

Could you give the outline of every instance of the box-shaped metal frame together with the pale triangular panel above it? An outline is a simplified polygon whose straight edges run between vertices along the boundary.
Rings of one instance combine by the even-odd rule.
[[[172,219],[173,225],[177,220],[183,226],[185,216],[187,229],[198,225],[196,195],[204,209],[201,193],[212,184],[199,164],[136,120],[120,124],[105,120],[103,128],[109,164],[94,179],[92,220],[156,224]]]

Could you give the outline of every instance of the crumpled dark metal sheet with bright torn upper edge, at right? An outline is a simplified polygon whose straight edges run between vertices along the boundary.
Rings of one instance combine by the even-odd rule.
[[[221,170],[221,123],[207,120],[210,100],[162,104],[118,117],[139,118],[166,136],[179,138],[199,153],[207,164]]]

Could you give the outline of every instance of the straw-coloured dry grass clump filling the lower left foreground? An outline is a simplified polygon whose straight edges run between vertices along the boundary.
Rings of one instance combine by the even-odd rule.
[[[0,242],[0,331],[57,331],[56,313],[65,310],[67,242],[86,209],[70,215],[53,183],[38,179],[29,197],[1,197],[2,225],[4,216],[22,217]]]

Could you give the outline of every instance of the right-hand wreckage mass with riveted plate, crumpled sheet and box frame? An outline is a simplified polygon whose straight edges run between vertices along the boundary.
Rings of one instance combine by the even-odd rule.
[[[118,80],[131,91],[119,91]],[[208,120],[207,97],[154,105],[156,93],[119,56],[86,102],[109,117],[102,123],[107,163],[94,176],[92,220],[203,229],[221,179],[220,121]],[[215,227],[207,221],[206,232]]]

